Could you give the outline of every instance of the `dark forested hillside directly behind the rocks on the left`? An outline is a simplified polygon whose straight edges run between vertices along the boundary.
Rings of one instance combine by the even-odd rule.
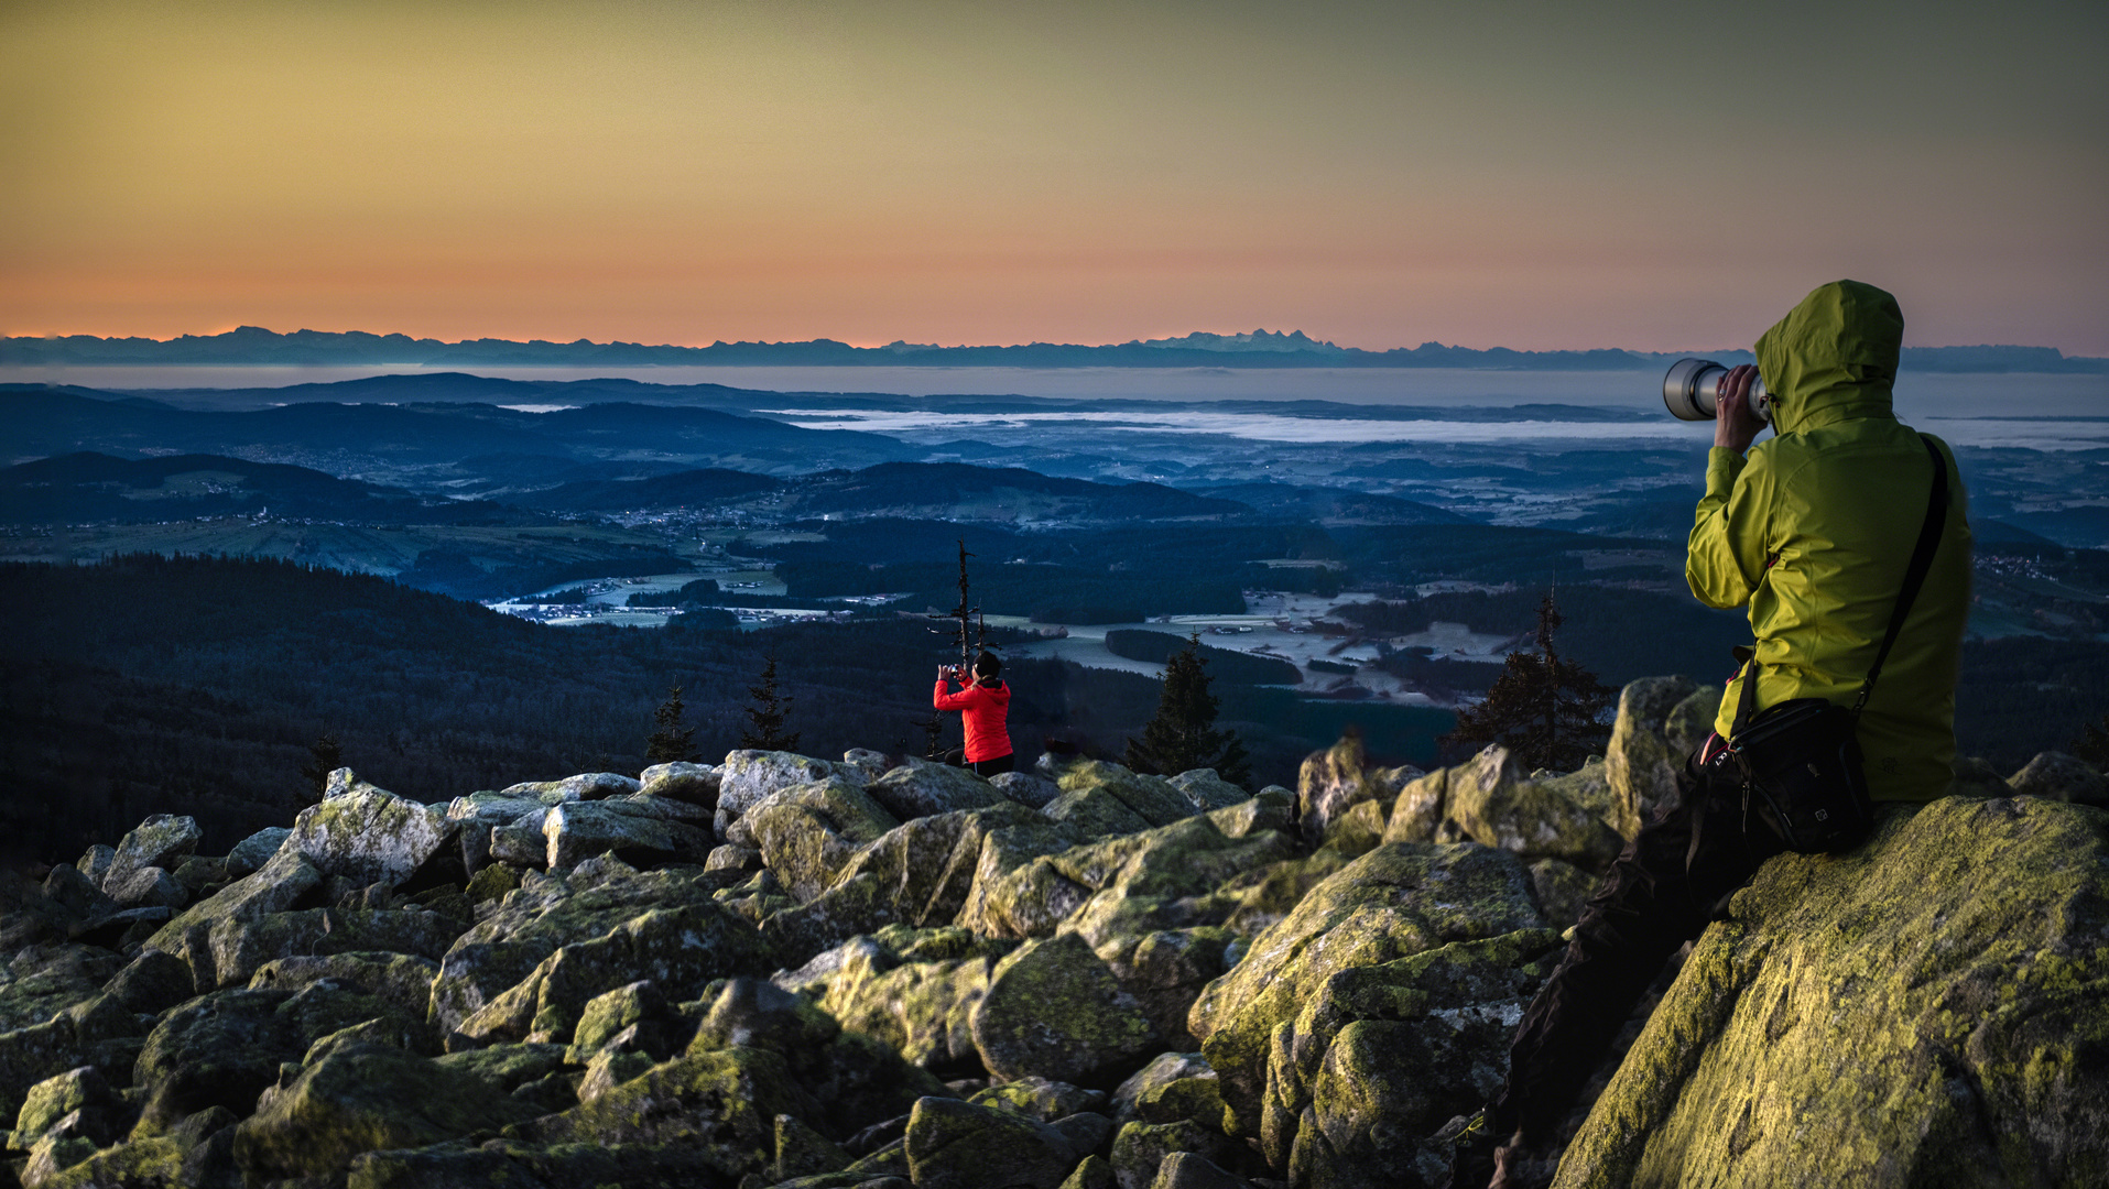
[[[299,767],[325,732],[361,774],[437,801],[637,772],[652,708],[681,685],[698,751],[721,757],[766,654],[804,751],[920,753],[915,721],[947,649],[920,616],[766,632],[546,628],[382,578],[245,559],[4,565],[0,618],[0,824],[57,850],[150,812],[194,814],[215,843],[285,820],[308,797]],[[1141,675],[1040,660],[1010,679],[1027,763],[1050,732],[1118,755],[1156,710],[1158,683]],[[1259,782],[1293,782],[1310,748],[1367,715],[1227,681],[1219,694]],[[1449,721],[1421,717],[1421,740]],[[957,742],[955,719],[947,729]]]

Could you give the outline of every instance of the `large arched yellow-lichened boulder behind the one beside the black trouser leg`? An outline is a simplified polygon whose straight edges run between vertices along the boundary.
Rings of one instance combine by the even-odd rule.
[[[1194,1001],[1187,1029],[1200,1037],[1244,1134],[1259,1134],[1270,1037],[1327,978],[1540,925],[1529,871],[1514,854],[1476,843],[1386,843],[1312,888],[1259,934],[1244,959]]]

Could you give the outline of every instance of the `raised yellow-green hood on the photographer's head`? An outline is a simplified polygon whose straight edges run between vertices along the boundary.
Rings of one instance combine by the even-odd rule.
[[[1816,287],[1757,339],[1774,432],[1896,420],[1890,390],[1902,348],[1904,314],[1888,291],[1860,280]]]

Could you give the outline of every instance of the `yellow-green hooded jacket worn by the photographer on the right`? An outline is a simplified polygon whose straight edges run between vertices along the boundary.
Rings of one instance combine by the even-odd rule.
[[[1858,280],[1824,285],[1757,339],[1778,436],[1748,460],[1706,455],[1685,582],[1708,607],[1750,607],[1757,704],[1829,698],[1852,706],[1875,664],[1932,491],[1919,434],[1890,411],[1904,339],[1896,297]],[[1970,611],[1970,523],[1949,468],[1949,512],[1926,586],[1860,715],[1869,791],[1940,797],[1955,761],[1955,670]],[[1721,698],[1723,738],[1742,698]]]

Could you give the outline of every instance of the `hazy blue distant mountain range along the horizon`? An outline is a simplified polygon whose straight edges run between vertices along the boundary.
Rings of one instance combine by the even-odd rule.
[[[1634,371],[1660,367],[1677,352],[1462,348],[1436,342],[1417,348],[1362,350],[1312,339],[1303,331],[1217,335],[1198,331],[1126,344],[934,346],[892,342],[858,348],[835,339],[715,342],[707,348],[597,344],[576,339],[413,339],[365,331],[293,331],[238,327],[219,335],[146,337],[0,337],[0,365],[293,365],[293,367],[652,367],[652,365],[776,365],[776,367],[1470,367],[1504,371]],[[1742,360],[1748,352],[1706,352]],[[2071,371],[2105,373],[2109,358],[2067,356],[2056,348],[1947,346],[1907,348],[1907,371]]]

